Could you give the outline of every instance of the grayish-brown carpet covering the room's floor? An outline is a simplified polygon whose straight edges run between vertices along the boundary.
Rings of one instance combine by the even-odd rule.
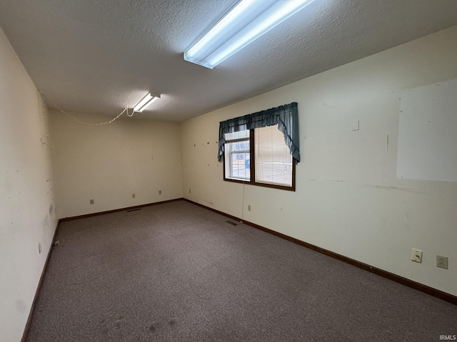
[[[62,222],[27,341],[440,341],[457,306],[185,201]]]

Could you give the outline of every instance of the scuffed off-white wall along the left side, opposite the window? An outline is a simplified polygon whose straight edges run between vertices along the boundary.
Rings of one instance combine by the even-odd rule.
[[[0,341],[20,341],[57,222],[46,108],[1,28],[0,103]]]

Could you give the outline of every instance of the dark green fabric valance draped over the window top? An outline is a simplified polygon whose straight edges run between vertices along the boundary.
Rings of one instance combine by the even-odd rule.
[[[271,125],[278,125],[278,130],[283,133],[284,141],[291,151],[291,155],[296,162],[299,162],[300,137],[298,136],[298,104],[296,102],[221,121],[219,123],[219,162],[222,161],[222,156],[224,155],[224,144],[226,143],[224,137],[226,133],[252,130]]]

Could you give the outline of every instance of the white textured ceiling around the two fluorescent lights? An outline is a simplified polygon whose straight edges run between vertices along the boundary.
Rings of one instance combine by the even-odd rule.
[[[37,88],[71,112],[181,121],[457,24],[456,0],[316,0],[209,70],[182,53],[236,0],[1,0]],[[48,102],[49,108],[52,105]]]

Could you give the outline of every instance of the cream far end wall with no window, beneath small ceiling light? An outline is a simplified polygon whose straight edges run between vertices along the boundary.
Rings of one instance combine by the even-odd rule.
[[[110,120],[73,115],[87,123]],[[182,197],[179,124],[121,117],[87,126],[60,111],[50,116],[59,218]]]

